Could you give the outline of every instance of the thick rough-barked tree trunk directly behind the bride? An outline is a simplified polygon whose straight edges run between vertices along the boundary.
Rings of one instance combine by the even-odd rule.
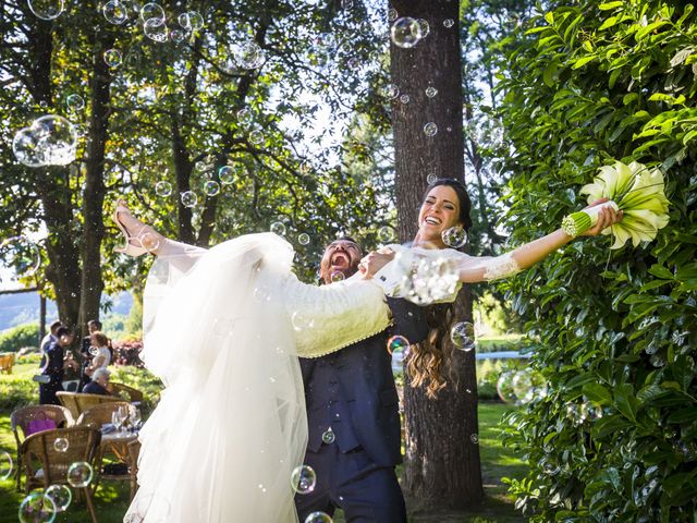
[[[392,82],[408,102],[394,102],[398,226],[401,241],[414,238],[427,178],[464,180],[462,66],[458,44],[458,2],[399,1],[399,16],[425,19],[430,33],[411,49],[391,48]],[[443,21],[452,20],[445,27]],[[438,94],[426,96],[427,87]],[[427,136],[424,125],[438,125]],[[455,304],[457,321],[472,321],[468,289]],[[448,369],[445,369],[448,374]],[[456,509],[478,504],[482,498],[477,422],[475,355],[455,351],[453,380],[438,400],[421,389],[405,387],[406,466],[403,487],[412,509]],[[414,501],[412,501],[414,500]],[[418,500],[418,502],[416,502]]]

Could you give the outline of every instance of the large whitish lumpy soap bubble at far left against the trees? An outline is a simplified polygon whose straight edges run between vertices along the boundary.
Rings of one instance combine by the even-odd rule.
[[[66,166],[75,160],[77,131],[63,117],[48,114],[17,131],[12,151],[27,167]]]

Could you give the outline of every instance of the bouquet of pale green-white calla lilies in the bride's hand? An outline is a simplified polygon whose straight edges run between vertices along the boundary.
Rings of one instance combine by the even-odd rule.
[[[653,240],[669,220],[661,171],[636,161],[628,166],[617,161],[599,171],[592,183],[582,187],[580,194],[588,195],[588,203],[600,198],[609,202],[566,216],[562,220],[564,232],[571,236],[582,234],[597,223],[600,209],[612,207],[622,210],[624,216],[619,223],[602,231],[614,236],[610,248],[620,248],[629,239],[635,247],[639,242]]]

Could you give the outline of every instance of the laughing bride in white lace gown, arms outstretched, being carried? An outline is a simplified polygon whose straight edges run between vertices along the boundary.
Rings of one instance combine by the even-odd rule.
[[[166,386],[139,435],[127,523],[296,522],[291,476],[307,438],[297,356],[384,330],[384,293],[403,293],[418,260],[454,260],[457,285],[431,296],[453,301],[462,282],[515,273],[572,240],[559,230],[494,258],[449,250],[442,232],[469,226],[469,199],[462,183],[439,180],[426,192],[411,248],[371,253],[353,277],[315,287],[293,275],[293,250],[274,234],[206,251],[166,239],[122,200],[113,219],[125,236],[120,252],[157,256],[144,293],[143,358]],[[603,209],[587,234],[620,219]]]

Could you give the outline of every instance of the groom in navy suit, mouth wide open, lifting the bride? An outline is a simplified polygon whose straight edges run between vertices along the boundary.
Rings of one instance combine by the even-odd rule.
[[[362,250],[351,238],[330,243],[320,263],[329,284],[358,270]],[[344,511],[346,522],[404,523],[404,497],[394,466],[402,461],[399,397],[387,342],[411,343],[428,333],[424,311],[388,297],[393,326],[341,351],[301,358],[309,425],[304,463],[317,474],[315,489],[296,495],[303,522],[322,511]]]

